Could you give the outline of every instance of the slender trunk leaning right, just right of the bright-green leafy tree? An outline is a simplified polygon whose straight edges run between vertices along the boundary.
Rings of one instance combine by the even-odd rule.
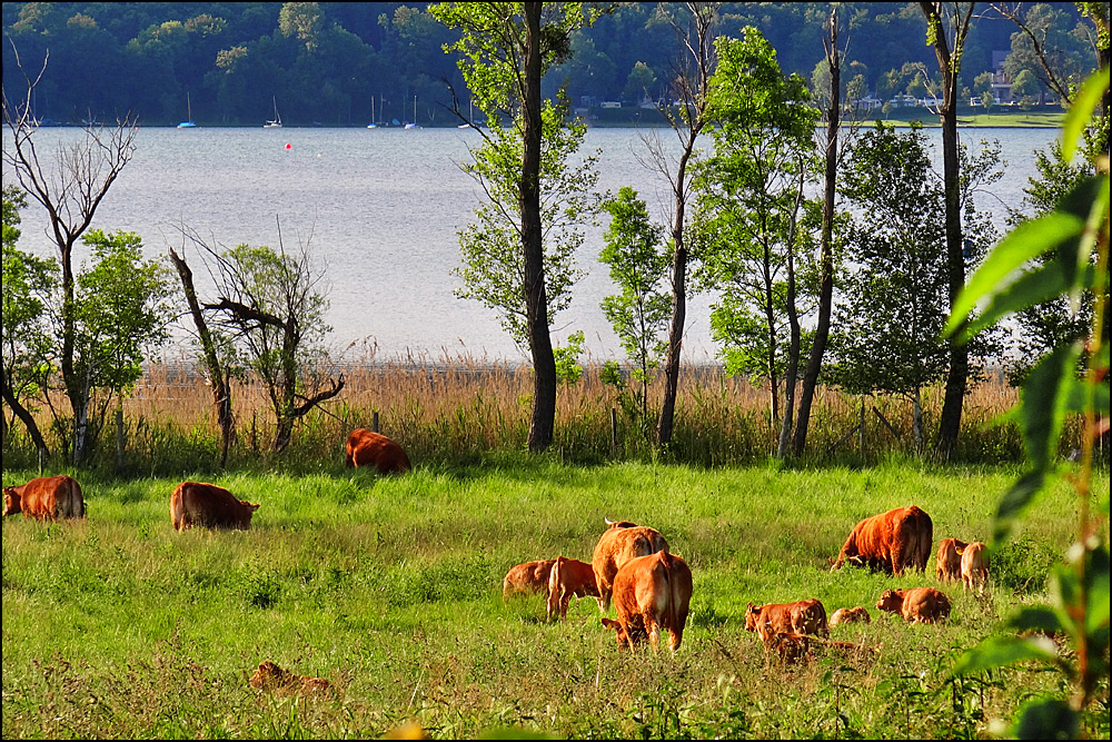
[[[818,373],[823,367],[823,354],[830,337],[831,307],[834,296],[834,185],[837,178],[838,127],[842,123],[841,76],[842,63],[837,50],[837,10],[831,11],[830,41],[826,60],[831,68],[831,105],[826,112],[826,189],[823,198],[822,246],[818,258],[818,320],[815,338],[811,346],[811,357],[803,375],[800,393],[800,416],[795,426],[792,447],[796,456],[802,456],[807,446],[807,425],[811,423],[811,405],[818,385]]]

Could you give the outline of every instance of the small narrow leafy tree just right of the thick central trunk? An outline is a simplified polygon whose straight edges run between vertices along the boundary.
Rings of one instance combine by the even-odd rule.
[[[672,317],[672,294],[664,284],[671,264],[669,250],[661,245],[662,228],[648,218],[645,201],[628,186],[605,204],[610,214],[599,260],[610,267],[610,279],[622,289],[602,301],[603,314],[622,342],[632,370],[641,385],[635,394],[642,434],[651,437],[648,383],[668,347],[663,333]]]

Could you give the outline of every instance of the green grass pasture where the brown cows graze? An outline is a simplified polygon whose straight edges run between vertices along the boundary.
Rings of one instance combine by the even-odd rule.
[[[249,532],[175,533],[177,479],[83,481],[89,517],[3,523],[4,738],[974,738],[1061,676],[1032,665],[946,684],[1001,617],[1044,594],[1072,541],[1060,484],[992,554],[984,597],[943,585],[947,624],[904,625],[875,603],[935,585],[827,558],[865,516],[917,504],[935,544],[987,540],[1012,468],[887,463],[852,471],[565,466],[547,458],[339,467],[209,478],[261,503]],[[4,472],[4,484],[27,472]],[[80,475],[79,475],[80,478]],[[1105,491],[1102,473],[1094,491]],[[519,562],[589,561],[604,517],[658,528],[695,587],[683,646],[619,651],[593,600],[549,623],[540,596],[502,600]],[[1106,537],[1106,534],[1104,534]],[[746,603],[864,605],[835,627],[873,657],[783,667],[744,631]],[[610,609],[613,617],[614,610]],[[264,660],[336,684],[336,700],[248,685]],[[1090,735],[1109,731],[1091,719]]]

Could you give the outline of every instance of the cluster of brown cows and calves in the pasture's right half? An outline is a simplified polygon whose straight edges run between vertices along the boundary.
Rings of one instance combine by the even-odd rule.
[[[503,600],[522,592],[547,594],[548,617],[558,614],[563,619],[572,595],[589,595],[598,602],[604,614],[602,623],[615,631],[619,646],[634,649],[647,640],[655,650],[664,630],[675,652],[683,641],[692,596],[687,563],[669,552],[667,540],[655,528],[629,521],[607,521],[607,526],[590,564],[560,555],[510,567],[503,581]],[[925,573],[933,538],[930,515],[915,505],[897,507],[858,523],[837,560],[831,560],[831,571],[850,563],[895,576],[909,568]],[[935,575],[942,582],[961,580],[969,590],[983,592],[989,576],[985,545],[943,540]],[[612,600],[617,621],[605,617]],[[885,590],[876,609],[897,614],[910,623],[939,623],[950,617],[951,604],[939,588],[922,586]],[[745,611],[745,629],[756,632],[765,650],[784,661],[811,657],[817,646],[843,653],[874,652],[871,647],[828,639],[832,626],[871,621],[868,611],[860,605],[838,609],[827,620],[826,609],[817,598],[766,605],[749,603]]]

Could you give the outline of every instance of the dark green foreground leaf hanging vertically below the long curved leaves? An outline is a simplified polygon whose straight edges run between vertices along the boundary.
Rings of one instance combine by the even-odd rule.
[[[1065,418],[1068,384],[1072,380],[1081,344],[1062,345],[1040,360],[1021,393],[1023,444],[1035,471],[1045,472],[1054,461]]]

